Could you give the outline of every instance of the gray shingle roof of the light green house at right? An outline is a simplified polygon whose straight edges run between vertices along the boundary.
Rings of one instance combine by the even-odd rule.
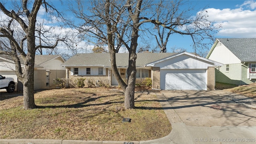
[[[242,62],[256,62],[256,38],[218,38]]]

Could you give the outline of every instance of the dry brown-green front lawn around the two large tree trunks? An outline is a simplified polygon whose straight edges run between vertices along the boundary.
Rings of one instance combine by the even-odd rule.
[[[32,110],[22,109],[23,96],[0,101],[0,138],[134,141],[172,129],[155,93],[136,93],[132,110],[122,108],[124,94],[117,89],[54,89],[34,97],[38,108]]]

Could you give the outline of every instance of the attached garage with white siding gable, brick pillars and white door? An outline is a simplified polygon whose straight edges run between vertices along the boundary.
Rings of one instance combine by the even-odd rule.
[[[152,88],[160,90],[214,90],[215,67],[222,65],[189,52],[145,64],[151,67]]]

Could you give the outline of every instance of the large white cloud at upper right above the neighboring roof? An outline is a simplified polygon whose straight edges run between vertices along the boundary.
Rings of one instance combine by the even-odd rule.
[[[252,1],[251,7],[255,8]],[[243,6],[248,5],[246,2]],[[232,38],[256,38],[256,10],[208,8],[208,20],[222,23],[217,36]]]

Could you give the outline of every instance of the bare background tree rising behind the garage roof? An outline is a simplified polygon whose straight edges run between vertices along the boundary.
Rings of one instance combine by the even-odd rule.
[[[154,29],[156,33],[152,33],[156,38],[156,42],[161,52],[166,52],[166,46],[172,34],[180,34],[190,36],[195,52],[207,48],[204,40],[214,41],[213,34],[216,34],[219,25],[214,26],[213,22],[208,20],[207,10],[202,10],[192,16],[191,10],[193,6],[188,1],[161,0],[156,6],[156,20]],[[181,9],[184,7],[183,9]]]

